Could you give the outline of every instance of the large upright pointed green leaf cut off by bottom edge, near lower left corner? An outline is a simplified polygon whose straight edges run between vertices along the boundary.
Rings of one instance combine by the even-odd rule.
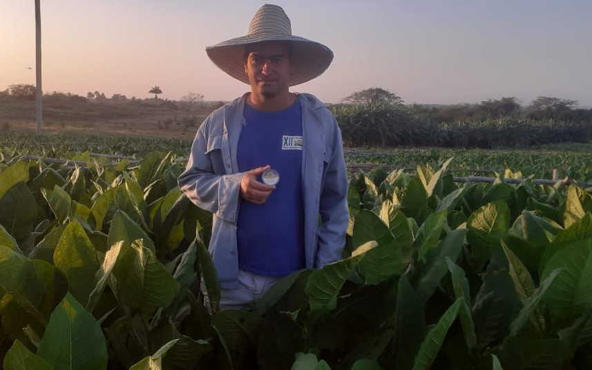
[[[101,326],[70,293],[51,314],[37,355],[60,370],[107,368],[107,344]]]

